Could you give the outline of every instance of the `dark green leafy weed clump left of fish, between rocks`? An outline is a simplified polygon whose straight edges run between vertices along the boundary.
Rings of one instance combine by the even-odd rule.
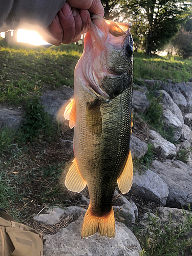
[[[48,113],[45,112],[37,97],[33,97],[26,103],[25,121],[21,130],[26,139],[33,139],[39,136],[51,136],[55,127]]]

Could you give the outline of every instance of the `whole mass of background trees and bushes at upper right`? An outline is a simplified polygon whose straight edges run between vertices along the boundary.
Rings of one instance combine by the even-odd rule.
[[[101,0],[105,18],[132,23],[135,50],[144,50],[152,55],[163,50],[169,43],[183,57],[191,51],[191,1],[182,0]],[[179,31],[187,45],[177,42]],[[178,34],[177,34],[178,33]],[[175,40],[172,41],[175,37]],[[180,37],[181,38],[181,37]],[[187,49],[186,49],[187,48]],[[172,51],[173,52],[173,51]]]

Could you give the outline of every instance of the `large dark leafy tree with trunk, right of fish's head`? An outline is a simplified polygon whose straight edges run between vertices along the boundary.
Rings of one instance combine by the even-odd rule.
[[[140,15],[145,22],[145,53],[151,55],[178,32],[190,13],[191,4],[182,0],[130,0],[125,8],[127,13]]]

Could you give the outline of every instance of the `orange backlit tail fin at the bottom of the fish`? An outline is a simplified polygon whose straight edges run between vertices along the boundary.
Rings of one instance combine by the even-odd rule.
[[[98,232],[101,237],[105,237],[105,235],[108,238],[115,237],[115,218],[113,208],[109,214],[97,217],[93,214],[89,206],[86,215],[84,216],[81,238],[91,237],[96,232]]]

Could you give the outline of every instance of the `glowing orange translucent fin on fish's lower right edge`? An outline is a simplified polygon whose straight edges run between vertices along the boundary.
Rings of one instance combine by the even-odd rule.
[[[127,193],[133,184],[133,162],[131,151],[127,157],[123,172],[121,173],[117,184],[122,194]]]

